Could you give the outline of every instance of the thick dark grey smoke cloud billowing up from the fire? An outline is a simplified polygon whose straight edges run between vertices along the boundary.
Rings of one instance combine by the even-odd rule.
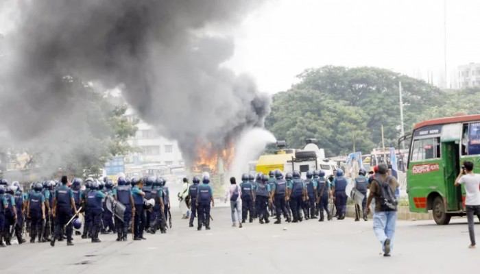
[[[0,137],[49,152],[86,130],[86,110],[66,75],[121,88],[143,120],[178,140],[187,162],[197,145],[224,147],[263,127],[270,98],[247,75],[221,66],[234,42],[206,35],[262,1],[35,0],[19,4],[0,67]],[[101,130],[101,129],[93,129]]]

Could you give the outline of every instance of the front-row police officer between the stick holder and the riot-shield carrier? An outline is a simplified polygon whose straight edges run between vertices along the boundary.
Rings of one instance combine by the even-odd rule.
[[[98,234],[101,229],[101,211],[102,202],[106,198],[104,193],[99,190],[99,182],[93,181],[90,185],[90,191],[86,196],[86,204],[88,206],[88,214],[92,221],[91,239],[92,242],[101,242]]]

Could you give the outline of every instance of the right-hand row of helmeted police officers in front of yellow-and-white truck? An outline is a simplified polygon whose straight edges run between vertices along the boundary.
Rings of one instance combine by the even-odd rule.
[[[333,217],[339,220],[345,219],[348,196],[346,195],[347,179],[341,169],[334,175],[325,177],[324,171],[307,171],[307,179],[300,178],[300,172],[286,173],[285,177],[280,170],[269,171],[268,175],[257,173],[253,175],[243,174],[241,177],[241,201],[242,223],[249,217],[250,223],[258,218],[261,224],[269,223],[269,216],[275,216],[274,223],[281,223],[281,216],[287,222],[301,222],[303,219],[325,219],[331,221]],[[355,188],[361,192],[363,199],[363,219],[368,221],[366,214],[366,197],[368,189],[367,171],[359,170],[359,176],[355,178]],[[191,186],[192,187],[192,186]],[[237,199],[235,195],[231,201]],[[329,200],[335,204],[335,216],[333,209],[328,208]],[[356,219],[359,221],[360,209],[356,206]],[[241,226],[240,226],[241,227]]]

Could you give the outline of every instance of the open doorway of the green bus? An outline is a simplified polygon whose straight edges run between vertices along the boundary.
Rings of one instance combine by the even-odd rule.
[[[461,187],[455,186],[455,179],[460,172],[459,144],[453,142],[442,142],[442,160],[444,162],[444,177],[446,190],[447,211],[460,210]]]

